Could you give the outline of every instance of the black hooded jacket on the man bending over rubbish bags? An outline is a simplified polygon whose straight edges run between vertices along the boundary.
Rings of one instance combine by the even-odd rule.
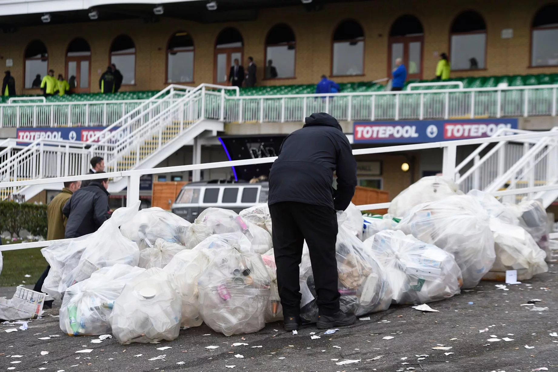
[[[279,151],[270,171],[268,204],[300,202],[347,209],[357,185],[357,162],[333,116],[313,113],[302,129],[285,138]]]

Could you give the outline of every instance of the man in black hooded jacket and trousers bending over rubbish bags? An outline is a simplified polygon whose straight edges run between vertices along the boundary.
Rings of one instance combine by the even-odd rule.
[[[333,173],[337,189],[333,189]],[[335,242],[337,214],[344,211],[357,185],[357,163],[337,120],[313,113],[283,141],[269,178],[273,249],[285,330],[300,325],[299,264],[304,241],[310,251],[318,294],[318,328],[348,326],[354,315],[339,309]]]

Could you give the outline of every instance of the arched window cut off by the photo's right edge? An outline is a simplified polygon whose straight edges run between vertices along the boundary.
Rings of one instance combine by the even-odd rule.
[[[558,65],[558,4],[542,7],[531,27],[531,66]]]

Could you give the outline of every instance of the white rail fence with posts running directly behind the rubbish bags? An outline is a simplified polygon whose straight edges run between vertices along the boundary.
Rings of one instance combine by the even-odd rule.
[[[398,146],[387,146],[387,147],[372,147],[368,149],[358,149],[353,150],[355,156],[365,155],[365,154],[383,154],[390,152],[401,152],[401,151],[417,151],[423,149],[436,149],[441,148],[444,150],[442,173],[448,177],[454,177],[456,169],[456,154],[457,147],[459,146],[470,146],[470,145],[483,145],[483,144],[498,144],[502,141],[513,141],[522,142],[527,140],[537,140],[545,136],[551,136],[553,138],[558,138],[558,131],[554,132],[540,132],[540,133],[521,133],[511,136],[506,136],[505,139],[502,137],[488,137],[483,139],[473,139],[473,140],[457,140],[457,141],[446,141],[446,142],[434,142],[427,144],[416,144],[416,145],[398,145]],[[31,185],[41,185],[41,184],[54,184],[61,182],[69,182],[75,180],[84,179],[99,179],[99,178],[126,178],[127,179],[127,204],[128,206],[140,199],[140,177],[144,174],[163,174],[163,173],[175,173],[182,171],[194,171],[203,169],[217,169],[217,168],[229,168],[230,166],[243,166],[243,165],[253,165],[253,164],[266,164],[273,163],[277,158],[258,158],[258,159],[247,159],[247,160],[233,160],[233,161],[220,161],[218,163],[206,163],[197,165],[181,165],[181,166],[170,166],[163,168],[153,168],[153,169],[136,169],[112,172],[106,174],[86,174],[71,177],[57,177],[49,179],[33,179],[33,180],[22,180],[13,182],[0,182],[0,193],[8,188],[19,188],[28,187]],[[558,162],[551,164],[554,170],[558,170]],[[521,193],[535,193],[535,192],[546,192],[558,190],[558,184],[533,186],[525,189],[509,189],[500,190],[496,192],[491,192],[494,196],[507,196],[516,195]],[[367,204],[364,206],[359,206],[363,211],[373,210],[373,209],[384,209],[388,208],[389,203],[378,203],[378,204]],[[15,249],[25,249],[31,247],[42,247],[49,245],[51,242],[32,242],[25,244],[14,244],[9,246],[0,246],[0,250],[15,250]]]

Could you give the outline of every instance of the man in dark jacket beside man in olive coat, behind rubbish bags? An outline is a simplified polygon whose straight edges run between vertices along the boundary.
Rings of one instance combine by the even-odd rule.
[[[68,217],[64,234],[66,239],[93,233],[108,220],[110,214],[107,188],[108,178],[94,179],[87,187],[82,187],[71,195],[62,208],[62,213]]]

